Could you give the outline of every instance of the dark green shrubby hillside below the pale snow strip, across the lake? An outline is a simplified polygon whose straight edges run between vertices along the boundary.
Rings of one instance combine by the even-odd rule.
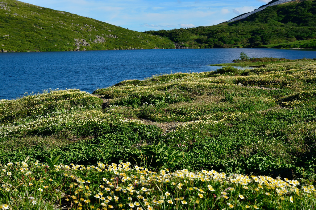
[[[316,1],[279,4],[245,19],[216,26],[146,33],[167,37],[180,47],[190,48],[316,48]],[[304,44],[301,46],[299,41]]]

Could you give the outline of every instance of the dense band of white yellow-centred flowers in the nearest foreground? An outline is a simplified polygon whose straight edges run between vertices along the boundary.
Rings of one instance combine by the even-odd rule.
[[[3,209],[313,208],[315,187],[298,180],[215,170],[151,171],[130,162],[93,166],[22,161],[0,166]]]

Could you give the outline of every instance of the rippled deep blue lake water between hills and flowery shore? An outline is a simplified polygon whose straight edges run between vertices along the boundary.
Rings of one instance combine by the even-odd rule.
[[[249,57],[316,58],[315,50],[161,49],[0,53],[0,99],[25,92],[73,89],[92,93],[126,79],[156,74],[214,71],[207,64]]]

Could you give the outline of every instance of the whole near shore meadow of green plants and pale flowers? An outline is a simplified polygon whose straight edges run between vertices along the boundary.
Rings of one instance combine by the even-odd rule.
[[[0,100],[3,209],[314,209],[316,61]]]

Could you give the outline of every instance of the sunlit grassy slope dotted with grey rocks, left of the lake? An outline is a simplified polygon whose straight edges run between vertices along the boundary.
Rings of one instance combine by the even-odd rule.
[[[15,0],[0,1],[1,51],[174,48],[158,35]]]

